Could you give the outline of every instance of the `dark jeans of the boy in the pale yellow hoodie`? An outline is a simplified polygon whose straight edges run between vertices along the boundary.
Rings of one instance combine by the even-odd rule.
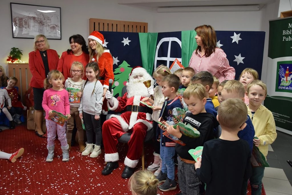
[[[262,179],[264,177],[265,167],[253,167],[252,175],[250,177],[251,183],[251,194],[261,195],[262,194]]]

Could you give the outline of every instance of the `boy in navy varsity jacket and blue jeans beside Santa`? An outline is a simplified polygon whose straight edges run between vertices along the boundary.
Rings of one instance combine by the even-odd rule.
[[[174,124],[172,121],[173,115],[172,110],[174,108],[183,108],[180,99],[176,92],[180,84],[180,79],[175,74],[170,74],[162,79],[162,94],[164,97],[168,97],[162,105],[162,109],[159,115],[159,121],[166,122],[167,124]],[[175,144],[173,140],[167,138],[162,133],[164,131],[157,128],[157,140],[159,140],[158,135],[160,135],[160,158],[161,158],[161,171],[157,175],[159,183],[164,182],[159,185],[161,191],[169,191],[176,189],[175,182],[175,165],[173,156],[175,156]]]

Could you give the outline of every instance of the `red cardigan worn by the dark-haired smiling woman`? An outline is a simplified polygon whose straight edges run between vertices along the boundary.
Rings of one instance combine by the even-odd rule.
[[[82,61],[81,63],[83,64],[84,66],[84,70],[85,70],[85,67],[88,63],[88,60],[89,60],[89,54],[87,53],[84,53],[82,52]],[[68,77],[72,77],[71,74],[70,74],[70,69],[71,69],[71,66],[72,66],[72,57],[73,57],[73,53],[70,52],[69,54],[67,53],[67,51],[64,51],[61,55],[61,58],[60,58],[60,61],[58,63],[58,70],[60,72],[62,72],[62,74],[64,75],[65,77],[65,80],[64,82],[66,81],[66,79]],[[85,71],[84,71],[84,76],[83,78],[84,80],[86,80],[86,76],[85,76]]]

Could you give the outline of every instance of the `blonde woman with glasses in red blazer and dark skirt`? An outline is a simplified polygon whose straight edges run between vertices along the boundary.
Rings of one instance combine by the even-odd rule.
[[[29,70],[32,73],[32,79],[29,86],[33,88],[34,93],[34,121],[36,123],[36,135],[44,137],[44,132],[41,129],[44,94],[44,80],[48,72],[57,69],[59,62],[58,53],[50,49],[48,39],[46,36],[39,34],[34,37],[34,51],[29,53]],[[44,130],[45,131],[45,130]]]

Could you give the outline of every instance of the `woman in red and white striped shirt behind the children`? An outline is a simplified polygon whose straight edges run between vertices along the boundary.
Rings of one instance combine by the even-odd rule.
[[[220,83],[224,80],[233,80],[235,69],[229,65],[224,51],[216,47],[216,33],[212,26],[202,25],[195,28],[197,49],[193,52],[189,67],[195,73],[208,71],[216,76]]]

